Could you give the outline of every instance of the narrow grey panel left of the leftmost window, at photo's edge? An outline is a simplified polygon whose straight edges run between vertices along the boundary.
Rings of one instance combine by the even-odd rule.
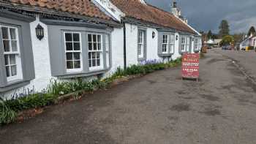
[[[7,83],[5,64],[4,64],[4,45],[1,37],[0,29],[0,87],[4,87]]]

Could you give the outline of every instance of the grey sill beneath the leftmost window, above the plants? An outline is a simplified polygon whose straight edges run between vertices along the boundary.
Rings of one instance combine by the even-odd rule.
[[[12,89],[26,86],[29,83],[30,83],[30,81],[12,80],[12,81],[8,82],[6,86],[0,87],[0,93],[6,92],[6,91],[11,91]]]

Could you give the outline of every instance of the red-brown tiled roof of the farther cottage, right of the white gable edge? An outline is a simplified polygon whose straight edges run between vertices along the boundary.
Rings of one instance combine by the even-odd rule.
[[[159,26],[165,26],[179,31],[186,31],[195,34],[195,31],[189,28],[185,23],[176,18],[173,14],[153,7],[149,4],[142,4],[140,0],[110,0],[118,9],[129,18],[144,20],[149,23],[155,23]]]

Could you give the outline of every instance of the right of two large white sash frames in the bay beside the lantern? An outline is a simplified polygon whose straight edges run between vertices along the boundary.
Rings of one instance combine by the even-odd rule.
[[[92,42],[92,48],[91,50],[89,50],[89,34],[91,34],[91,42]],[[101,48],[99,50],[99,48],[97,48],[97,50],[94,50],[93,48],[93,35],[96,35],[96,36],[100,36],[100,45],[101,45]],[[104,64],[103,64],[103,35],[102,34],[99,34],[99,33],[88,33],[87,34],[87,38],[88,38],[88,56],[89,56],[89,53],[96,53],[96,58],[94,59],[97,59],[97,53],[99,53],[99,66],[95,66],[95,67],[90,67],[90,64],[89,64],[89,61],[91,61],[91,65],[92,65],[92,61],[93,61],[93,58],[92,58],[92,54],[91,54],[91,58],[88,58],[88,64],[89,64],[89,71],[94,71],[94,70],[100,70],[100,69],[104,69]],[[98,37],[96,37],[96,43],[98,42]],[[97,65],[97,60],[96,60],[96,65]]]

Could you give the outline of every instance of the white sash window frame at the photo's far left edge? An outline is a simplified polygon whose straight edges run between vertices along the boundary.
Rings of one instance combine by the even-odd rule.
[[[8,29],[8,39],[4,39],[4,37],[2,37],[2,42],[4,44],[4,40],[8,40],[9,41],[9,47],[10,47],[10,51],[9,52],[5,52],[4,51],[4,66],[5,66],[5,70],[7,70],[7,67],[9,67],[8,71],[10,76],[7,77],[7,82],[13,81],[13,80],[22,80],[23,79],[23,72],[22,72],[22,65],[21,65],[21,57],[20,57],[20,41],[19,41],[19,34],[18,34],[18,28],[17,27],[13,27],[13,26],[3,26],[0,25],[0,29],[4,27]],[[15,29],[15,37],[16,39],[12,39],[11,38],[11,34],[10,34],[10,29]],[[3,34],[3,32],[1,31],[1,34]],[[16,41],[16,46],[17,46],[17,51],[12,51],[12,41]],[[4,45],[3,46],[3,50],[4,50]],[[15,55],[15,64],[10,64],[10,56],[11,55]],[[8,57],[8,64],[5,64],[5,56]],[[11,67],[16,66],[16,75],[12,76],[12,71],[11,71]],[[7,76],[7,75],[6,75]]]

